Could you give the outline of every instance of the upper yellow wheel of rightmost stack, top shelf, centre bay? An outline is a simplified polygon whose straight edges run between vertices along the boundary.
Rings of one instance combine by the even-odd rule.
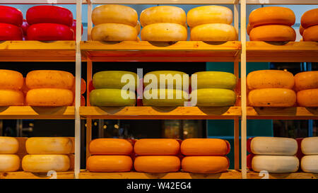
[[[207,23],[231,24],[233,14],[225,6],[199,6],[187,13],[187,24],[190,28]]]

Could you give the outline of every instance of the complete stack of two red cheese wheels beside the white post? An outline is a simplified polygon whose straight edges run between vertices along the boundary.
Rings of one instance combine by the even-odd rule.
[[[33,6],[26,13],[28,40],[74,40],[73,13],[60,6]]]

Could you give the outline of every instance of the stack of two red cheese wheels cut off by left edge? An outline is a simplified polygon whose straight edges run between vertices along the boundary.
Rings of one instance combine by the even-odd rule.
[[[0,6],[0,41],[23,40],[23,14],[18,8]]]

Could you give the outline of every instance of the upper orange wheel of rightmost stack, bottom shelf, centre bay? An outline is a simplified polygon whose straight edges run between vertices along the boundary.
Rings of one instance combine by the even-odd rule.
[[[186,139],[182,141],[184,156],[225,156],[230,153],[230,144],[223,139]]]

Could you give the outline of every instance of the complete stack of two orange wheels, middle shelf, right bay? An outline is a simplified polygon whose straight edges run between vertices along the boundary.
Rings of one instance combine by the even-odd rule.
[[[247,75],[249,105],[252,107],[292,107],[296,93],[294,76],[288,71],[261,70]]]

